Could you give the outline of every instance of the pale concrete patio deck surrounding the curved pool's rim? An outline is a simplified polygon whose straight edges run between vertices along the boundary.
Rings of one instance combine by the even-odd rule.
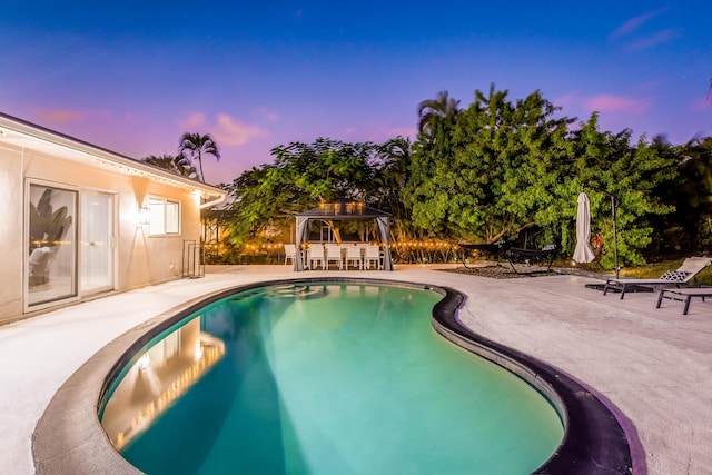
[[[0,326],[0,473],[32,474],[31,437],[57,389],[89,357],[128,329],[177,305],[260,280],[375,277],[453,287],[475,333],[540,358],[602,395],[626,419],[635,473],[711,473],[712,306],[653,294],[603,296],[595,278],[497,280],[397,266],[394,273],[295,274],[284,266],[208,268],[205,278],[117,294]]]

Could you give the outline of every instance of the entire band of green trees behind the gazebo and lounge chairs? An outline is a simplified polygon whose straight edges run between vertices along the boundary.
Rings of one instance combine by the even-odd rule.
[[[234,244],[286,226],[319,202],[347,199],[390,212],[395,241],[505,239],[555,244],[566,256],[575,245],[582,190],[604,268],[614,266],[613,207],[622,265],[644,263],[646,253],[663,249],[683,228],[689,246],[703,243],[690,225],[701,217],[712,240],[710,138],[684,147],[660,137],[633,142],[630,129],[600,130],[595,112],[584,121],[562,116],[538,90],[523,99],[508,96],[492,85],[487,92],[475,90],[461,109],[442,91],[418,105],[413,144],[403,137],[383,144],[319,138],[275,147],[273,164],[225,186],[235,204]]]

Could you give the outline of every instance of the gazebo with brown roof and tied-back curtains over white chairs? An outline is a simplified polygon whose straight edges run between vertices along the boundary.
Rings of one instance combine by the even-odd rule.
[[[308,236],[309,225],[314,220],[367,220],[373,219],[378,227],[378,234],[380,240],[384,243],[383,255],[383,269],[393,270],[393,260],[390,258],[390,215],[379,209],[365,206],[360,201],[336,201],[336,202],[323,202],[318,207],[309,209],[308,211],[299,212],[296,215],[297,232],[295,244],[297,253],[301,248],[301,243],[306,240]],[[301,259],[294,259],[294,270],[303,271],[304,263]]]

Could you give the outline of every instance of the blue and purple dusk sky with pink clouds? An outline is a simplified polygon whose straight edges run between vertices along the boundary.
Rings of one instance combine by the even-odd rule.
[[[131,158],[211,133],[229,182],[318,137],[415,138],[491,83],[672,144],[712,135],[712,2],[33,1],[0,8],[0,111]]]

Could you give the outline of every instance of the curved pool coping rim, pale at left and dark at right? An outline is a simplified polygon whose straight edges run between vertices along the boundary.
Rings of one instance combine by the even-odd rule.
[[[310,277],[265,280],[206,294],[140,324],[117,337],[75,372],[58,389],[32,434],[37,474],[142,472],[126,461],[103,432],[98,413],[109,385],[155,335],[237,291],[295,283],[373,283],[435,290],[443,299],[433,308],[434,329],[452,343],[511,370],[544,394],[565,427],[562,444],[535,473],[630,474],[631,453],[615,415],[595,394],[561,370],[521,352],[484,338],[457,319],[466,296],[448,287],[377,278]]]

